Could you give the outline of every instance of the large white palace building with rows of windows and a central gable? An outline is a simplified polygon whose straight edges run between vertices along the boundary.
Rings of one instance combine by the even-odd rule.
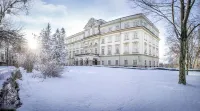
[[[66,38],[67,65],[156,67],[159,30],[143,14],[112,21],[91,18]]]

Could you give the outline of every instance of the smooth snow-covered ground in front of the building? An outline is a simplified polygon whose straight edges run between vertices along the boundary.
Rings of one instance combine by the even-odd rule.
[[[66,67],[61,78],[23,74],[19,111],[200,111],[200,72]]]

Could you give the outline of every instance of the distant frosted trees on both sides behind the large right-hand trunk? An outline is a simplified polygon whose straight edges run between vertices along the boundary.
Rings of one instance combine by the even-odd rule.
[[[172,38],[170,35],[167,37],[167,44],[169,46],[169,52],[167,55],[167,59],[169,62],[170,67],[177,67],[178,66],[178,59],[180,56],[180,43],[177,39]],[[200,68],[200,63],[198,60],[200,59],[200,28],[195,30],[191,37],[187,40],[186,46],[186,68],[187,70]],[[187,71],[188,74],[188,71]]]

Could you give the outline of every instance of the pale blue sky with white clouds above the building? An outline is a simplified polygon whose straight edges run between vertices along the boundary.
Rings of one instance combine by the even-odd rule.
[[[32,39],[32,34],[39,35],[47,23],[51,23],[52,33],[63,27],[69,36],[82,31],[91,17],[110,21],[141,12],[133,9],[129,0],[32,0],[29,14],[16,16],[14,22],[23,26],[27,39]],[[153,21],[151,16],[148,18]],[[165,27],[162,22],[155,25],[160,31],[159,56],[163,62],[166,53]]]

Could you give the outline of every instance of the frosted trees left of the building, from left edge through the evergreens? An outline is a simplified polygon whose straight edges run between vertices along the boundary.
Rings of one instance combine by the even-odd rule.
[[[28,14],[31,0],[1,0],[0,1],[0,48],[12,52],[12,56],[17,59],[17,64],[23,65],[27,72],[32,72],[34,64],[40,64],[39,69],[46,76],[58,76],[61,66],[65,63],[64,37],[65,29],[56,30],[51,34],[51,26],[41,31],[38,38],[40,43],[40,52],[38,55],[31,52],[26,46],[27,42],[21,28],[15,29],[11,22],[12,15],[18,15],[21,12]],[[10,15],[10,19],[6,15]],[[46,77],[45,76],[45,77]]]

